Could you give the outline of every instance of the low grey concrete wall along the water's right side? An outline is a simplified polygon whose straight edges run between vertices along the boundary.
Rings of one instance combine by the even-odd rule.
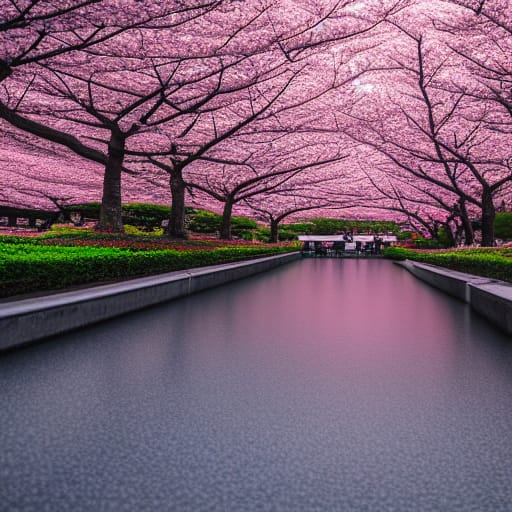
[[[467,302],[479,315],[512,335],[512,284],[496,279],[456,272],[426,263],[397,262],[411,274]]]

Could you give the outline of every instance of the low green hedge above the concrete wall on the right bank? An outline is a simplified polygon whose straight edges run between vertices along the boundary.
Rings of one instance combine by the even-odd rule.
[[[477,276],[512,282],[511,249],[467,249],[459,251],[417,252],[390,247],[384,256],[394,260],[414,260]]]

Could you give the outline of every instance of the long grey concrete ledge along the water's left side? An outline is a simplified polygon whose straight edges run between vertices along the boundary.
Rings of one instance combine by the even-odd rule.
[[[0,304],[0,351],[219,286],[300,258],[266,258],[169,272]]]

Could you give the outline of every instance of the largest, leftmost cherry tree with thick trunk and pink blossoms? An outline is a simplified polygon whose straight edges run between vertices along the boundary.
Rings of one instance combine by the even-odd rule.
[[[119,80],[126,71],[131,71],[132,80],[140,78],[143,74],[142,65],[136,66],[135,69],[133,66],[133,60],[141,60],[140,51],[132,57],[131,62],[129,59],[126,60],[126,53],[135,53],[134,49],[140,50],[137,45],[140,46],[142,42],[143,29],[149,30],[153,35],[156,30],[160,32],[174,29],[205,15],[218,6],[219,2],[191,2],[187,6],[182,2],[169,2],[156,8],[147,2],[145,5],[130,2],[123,10],[119,10],[115,2],[101,2],[101,9],[92,5],[96,3],[98,2],[82,2],[77,6],[73,5],[73,2],[60,2],[57,5],[50,5],[49,2],[32,2],[33,5],[22,8],[19,3],[11,2],[11,11],[3,25],[10,36],[4,40],[8,58],[2,61],[6,69],[3,76],[7,78],[12,75],[13,68],[25,66],[23,73],[18,73],[10,81],[12,83],[4,86],[0,116],[17,128],[65,145],[85,158],[105,164],[99,228],[122,230],[120,177],[126,139],[138,131],[137,122],[144,123],[154,113],[157,105],[154,102],[150,106],[147,104],[151,103],[155,96],[162,96],[166,84],[158,83],[144,92],[140,88],[133,91],[118,88],[118,97],[114,98],[114,101],[119,102],[120,95],[124,94],[125,97],[124,104],[118,104],[120,111],[115,115],[114,109],[109,109],[105,105],[105,92],[109,87],[111,92],[115,89],[108,79],[114,80],[115,83],[115,80]],[[89,7],[89,10],[80,11],[80,8],[85,7]],[[142,7],[146,9],[141,9]],[[18,39],[30,40],[30,36],[33,41],[27,43],[26,48],[17,43]],[[114,57],[124,57],[125,60],[120,66],[112,69],[109,66],[112,66]],[[109,63],[105,66],[103,63],[98,65],[99,61],[105,60]],[[73,71],[69,71],[70,69]],[[158,74],[155,65],[153,69],[155,74]],[[135,76],[137,73],[138,77]],[[105,80],[106,78],[108,79]],[[46,90],[41,86],[41,82],[46,82]],[[98,93],[98,89],[101,88],[103,90]],[[86,89],[87,94],[84,92]],[[57,96],[63,104],[49,105],[48,94],[53,94],[53,99]],[[131,103],[126,98],[130,94]],[[97,108],[97,103],[100,102],[98,95],[103,96],[103,104]],[[21,111],[20,115],[20,109],[30,101],[32,104],[28,111]],[[73,110],[66,101],[74,101],[82,110]],[[156,101],[162,103],[163,100],[160,98]],[[147,106],[146,112],[140,113],[144,105]],[[136,113],[139,115],[138,120],[128,120],[127,124],[131,121],[131,125],[121,127],[121,121],[129,115],[134,117],[136,110],[139,111]],[[24,113],[28,115],[24,116]],[[39,119],[31,118],[31,113],[39,114]],[[65,127],[62,123],[58,128],[51,126],[51,121],[47,118],[55,117],[55,114],[60,121],[65,119],[70,123]],[[111,117],[108,114],[111,114]],[[106,148],[85,144],[73,133],[73,124],[85,125],[96,131],[101,128],[108,130],[108,140],[104,141]],[[92,137],[101,141],[98,134],[92,134]]]

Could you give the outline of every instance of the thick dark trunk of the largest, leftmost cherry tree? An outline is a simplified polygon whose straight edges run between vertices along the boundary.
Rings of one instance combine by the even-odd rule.
[[[103,176],[98,231],[124,232],[121,204],[121,173],[123,168],[125,137],[121,131],[113,130],[108,144],[108,159]]]

